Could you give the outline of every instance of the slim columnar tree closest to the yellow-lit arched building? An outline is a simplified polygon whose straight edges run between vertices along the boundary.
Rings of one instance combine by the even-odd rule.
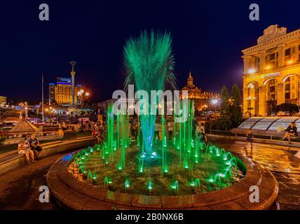
[[[240,107],[240,88],[234,84],[231,88],[231,123],[232,127],[238,127],[243,119],[242,108]]]

